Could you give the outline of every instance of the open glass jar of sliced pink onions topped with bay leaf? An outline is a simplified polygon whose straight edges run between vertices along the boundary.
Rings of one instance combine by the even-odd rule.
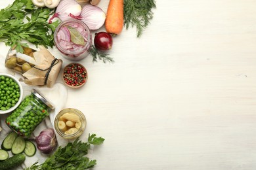
[[[54,44],[66,59],[77,61],[87,57],[91,43],[89,27],[79,20],[61,22],[54,31]]]

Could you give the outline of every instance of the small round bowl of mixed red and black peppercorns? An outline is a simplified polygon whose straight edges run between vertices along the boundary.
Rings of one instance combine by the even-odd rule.
[[[87,82],[88,73],[80,63],[70,63],[64,67],[62,78],[66,86],[81,88]]]

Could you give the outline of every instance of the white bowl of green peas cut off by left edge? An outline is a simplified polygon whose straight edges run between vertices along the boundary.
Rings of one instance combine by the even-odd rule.
[[[23,88],[12,75],[0,73],[0,114],[12,112],[22,101]]]

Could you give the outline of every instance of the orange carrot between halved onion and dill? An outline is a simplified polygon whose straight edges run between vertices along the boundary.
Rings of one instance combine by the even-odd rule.
[[[108,33],[121,33],[123,29],[123,0],[110,0],[105,28]]]

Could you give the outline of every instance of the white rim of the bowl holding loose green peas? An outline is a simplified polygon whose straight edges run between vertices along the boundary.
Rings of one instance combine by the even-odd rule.
[[[7,109],[7,110],[1,110],[1,108],[0,108],[0,114],[6,114],[9,112],[12,112],[14,109],[16,109],[20,105],[20,103],[22,101],[22,97],[23,97],[23,88],[22,88],[22,85],[20,84],[19,80],[15,76],[12,76],[12,75],[9,75],[6,73],[0,73],[0,77],[1,76],[5,76],[7,78],[12,78],[12,80],[14,80],[14,82],[16,82],[20,88],[20,97],[18,98],[17,103],[13,107],[11,107],[10,109]]]

